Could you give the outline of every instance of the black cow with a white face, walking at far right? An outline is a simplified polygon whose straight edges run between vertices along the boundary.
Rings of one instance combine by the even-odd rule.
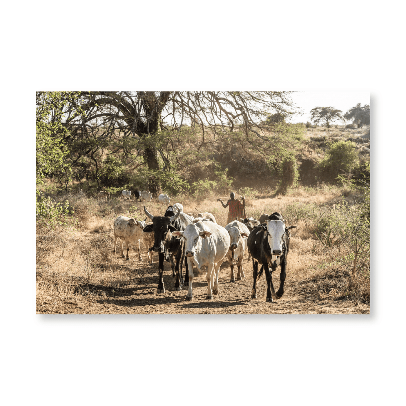
[[[254,278],[251,298],[257,297],[256,283],[262,276],[264,269],[266,282],[268,283],[266,301],[273,302],[273,299],[280,299],[283,295],[287,254],[289,253],[289,229],[296,228],[296,226],[285,227],[285,221],[280,213],[272,213],[269,220],[265,220],[265,223],[254,227],[253,231],[248,235],[248,253],[251,254],[253,259]],[[262,265],[259,273],[258,263]],[[279,275],[281,285],[275,294],[274,285],[272,284],[272,272],[276,270],[278,265],[281,266],[281,274]]]

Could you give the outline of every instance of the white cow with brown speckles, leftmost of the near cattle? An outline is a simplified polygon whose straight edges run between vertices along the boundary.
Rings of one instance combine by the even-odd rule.
[[[145,218],[145,220],[147,220]],[[116,253],[117,240],[122,240],[121,246],[121,257],[125,258],[126,261],[130,261],[128,256],[129,247],[128,244],[132,244],[138,247],[138,259],[143,261],[140,255],[140,240],[143,238],[143,229],[145,227],[145,220],[137,221],[134,218],[128,218],[124,216],[119,216],[114,221],[114,254]],[[123,253],[123,244],[127,247],[127,256]]]

